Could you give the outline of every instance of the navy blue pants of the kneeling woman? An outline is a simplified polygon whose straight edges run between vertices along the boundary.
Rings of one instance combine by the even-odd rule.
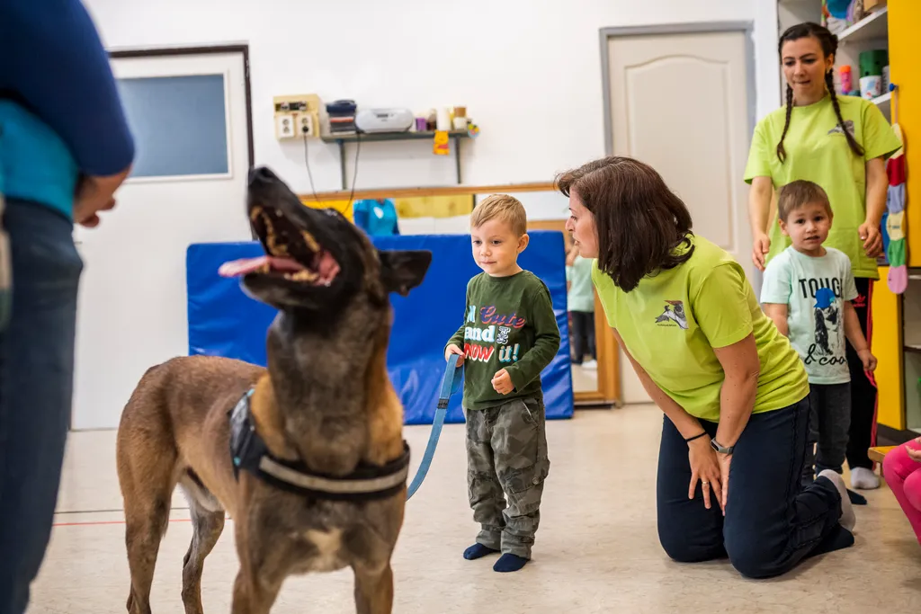
[[[659,541],[678,562],[729,556],[743,575],[787,573],[806,557],[854,543],[838,524],[841,496],[827,478],[802,488],[809,431],[809,397],[776,411],[753,414],[732,455],[726,516],[711,495],[704,506],[698,482],[688,499],[688,446],[666,417],[659,448]],[[710,436],[717,423],[701,421]]]

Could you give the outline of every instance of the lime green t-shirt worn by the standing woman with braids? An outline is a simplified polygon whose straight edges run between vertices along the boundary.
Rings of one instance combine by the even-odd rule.
[[[774,189],[794,180],[818,183],[828,193],[834,222],[825,241],[827,247],[840,249],[851,259],[855,277],[880,279],[876,261],[867,256],[857,228],[867,218],[867,167],[875,157],[891,156],[902,144],[875,104],[856,96],[839,96],[841,116],[845,126],[863,149],[857,156],[847,145],[845,134],[838,126],[832,98],[826,95],[819,102],[794,107],[790,126],[784,139],[787,160],[777,159],[777,143],[784,132],[786,108],[772,111],[754,129],[752,148],[745,168],[745,181],[755,177],[770,177]],[[774,258],[790,245],[789,237],[780,232],[776,217],[768,230],[771,249],[767,259]]]

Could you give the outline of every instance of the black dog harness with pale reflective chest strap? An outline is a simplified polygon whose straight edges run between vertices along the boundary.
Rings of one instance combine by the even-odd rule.
[[[311,471],[301,461],[275,458],[256,432],[250,399],[253,390],[230,411],[230,458],[234,477],[239,470],[249,471],[277,488],[330,501],[370,501],[397,494],[409,475],[409,445],[403,440],[402,455],[379,467],[360,464],[343,477]]]

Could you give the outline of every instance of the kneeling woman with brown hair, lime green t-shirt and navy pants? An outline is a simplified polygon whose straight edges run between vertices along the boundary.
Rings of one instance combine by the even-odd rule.
[[[612,156],[557,178],[566,229],[597,258],[592,279],[617,342],[665,412],[659,540],[669,556],[729,556],[770,577],[854,543],[845,483],[799,485],[810,415],[799,355],[740,265],[691,231],[653,168]]]

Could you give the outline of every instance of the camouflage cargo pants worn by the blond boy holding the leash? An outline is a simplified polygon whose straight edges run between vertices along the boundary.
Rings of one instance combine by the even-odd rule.
[[[467,486],[482,527],[476,541],[530,559],[550,470],[543,403],[510,400],[466,418]]]

